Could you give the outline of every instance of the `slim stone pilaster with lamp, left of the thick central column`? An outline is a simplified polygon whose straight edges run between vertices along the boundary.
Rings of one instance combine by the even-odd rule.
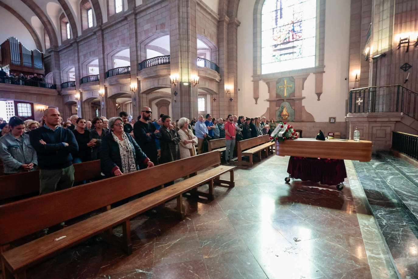
[[[128,16],[129,22],[129,54],[130,54],[130,84],[136,84],[137,89],[132,92],[132,116],[137,120],[140,115],[141,106],[146,105],[141,102],[140,86],[137,78],[138,74],[138,33],[135,14]]]

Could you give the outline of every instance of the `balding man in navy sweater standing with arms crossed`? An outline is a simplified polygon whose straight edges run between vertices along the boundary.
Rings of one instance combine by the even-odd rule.
[[[41,169],[40,195],[70,188],[74,183],[71,152],[78,151],[78,144],[74,133],[59,127],[59,117],[55,108],[46,109],[43,112],[45,124],[29,133]]]

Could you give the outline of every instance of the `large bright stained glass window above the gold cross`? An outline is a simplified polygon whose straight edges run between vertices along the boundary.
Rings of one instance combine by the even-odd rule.
[[[316,0],[265,0],[261,73],[315,67]]]

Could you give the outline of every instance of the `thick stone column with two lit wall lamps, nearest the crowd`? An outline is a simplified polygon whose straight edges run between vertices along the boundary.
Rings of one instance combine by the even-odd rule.
[[[172,119],[197,116],[197,86],[190,83],[197,75],[196,1],[170,0],[170,74],[178,74],[171,85]],[[176,95],[175,93],[176,92]]]

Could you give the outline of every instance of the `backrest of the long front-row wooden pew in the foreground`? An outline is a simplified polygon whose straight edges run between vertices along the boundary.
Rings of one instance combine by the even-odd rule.
[[[0,205],[0,245],[220,164],[219,152]]]

